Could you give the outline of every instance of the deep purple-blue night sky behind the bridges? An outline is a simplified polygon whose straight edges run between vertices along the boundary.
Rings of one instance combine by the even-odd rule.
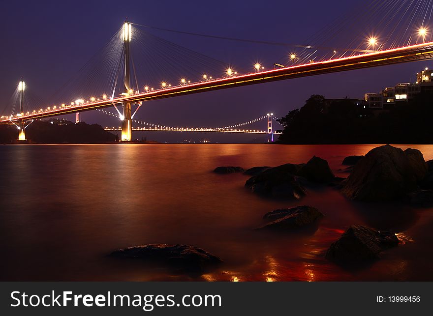
[[[1,1],[2,107],[21,77],[38,95],[53,94],[129,21],[166,29],[263,41],[306,43],[324,25],[361,1]],[[359,26],[359,31],[365,31]],[[236,65],[256,60],[272,68],[284,47],[232,42],[151,30],[155,35]],[[332,43],[337,44],[337,43]],[[328,98],[362,98],[385,86],[414,81],[430,62],[413,62],[366,70],[239,87],[146,103],[137,118],[170,126],[216,127],[247,121],[269,112],[279,115],[301,107],[311,94]],[[68,116],[72,119],[71,115]],[[95,111],[89,123],[118,125]],[[254,125],[252,128],[265,128]],[[148,139],[177,141],[181,135],[146,134]],[[138,136],[136,134],[136,136]],[[141,135],[140,135],[141,136]],[[197,140],[228,140],[195,136]],[[249,141],[250,135],[232,140]]]

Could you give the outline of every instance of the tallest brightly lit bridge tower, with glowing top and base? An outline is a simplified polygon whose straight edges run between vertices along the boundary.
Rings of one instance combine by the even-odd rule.
[[[124,39],[124,86],[125,94],[131,93],[130,86],[130,63],[129,63],[129,44],[131,42],[132,29],[131,24],[125,21],[123,29],[123,39]],[[129,142],[132,140],[132,119],[131,119],[131,101],[123,102],[123,120],[122,120],[122,141]]]

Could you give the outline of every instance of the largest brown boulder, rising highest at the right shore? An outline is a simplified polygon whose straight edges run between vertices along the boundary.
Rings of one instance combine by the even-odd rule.
[[[417,189],[427,164],[417,149],[384,145],[371,149],[354,167],[342,193],[360,201],[389,201]]]

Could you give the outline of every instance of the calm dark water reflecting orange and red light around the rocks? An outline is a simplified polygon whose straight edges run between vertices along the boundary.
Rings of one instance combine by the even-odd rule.
[[[400,146],[400,145],[399,145]],[[365,205],[333,188],[272,201],[216,166],[277,166],[347,155],[375,145],[111,144],[0,146],[1,280],[433,280],[433,209]],[[401,145],[403,149],[409,147]],[[413,145],[433,159],[433,145]],[[346,176],[340,173],[341,176]],[[310,235],[251,230],[264,213],[309,204],[326,216]],[[399,247],[361,270],[323,258],[351,224],[400,231]],[[148,243],[185,243],[224,260],[203,276],[176,275],[107,257]]]

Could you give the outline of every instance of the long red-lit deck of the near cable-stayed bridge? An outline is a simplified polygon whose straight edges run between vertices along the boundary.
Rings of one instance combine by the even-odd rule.
[[[75,112],[84,112],[98,108],[112,106],[112,102],[121,103],[123,101],[143,102],[149,100],[157,100],[174,96],[200,93],[235,86],[247,86],[259,83],[272,82],[277,80],[285,80],[292,78],[300,78],[307,76],[315,76],[333,72],[355,70],[362,68],[377,67],[382,65],[396,64],[415,60],[426,60],[433,58],[433,42],[418,44],[408,47],[380,51],[375,53],[343,57],[320,61],[315,63],[297,65],[286,68],[262,71],[247,75],[239,75],[228,78],[220,78],[208,80],[198,83],[191,83],[181,86],[173,86],[168,88],[157,89],[144,93],[136,93],[129,96],[122,96],[113,100],[101,100],[91,103],[86,103],[79,106],[65,106],[55,110],[43,111],[41,113],[31,113],[29,115],[14,116],[12,121],[29,120],[34,118],[42,118],[56,115],[64,115]],[[0,123],[8,123],[11,120],[3,119]]]

